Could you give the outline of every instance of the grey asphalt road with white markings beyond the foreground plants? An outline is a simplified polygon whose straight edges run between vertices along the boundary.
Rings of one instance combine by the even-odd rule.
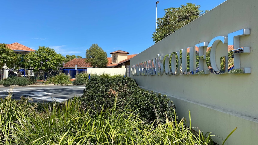
[[[12,98],[20,100],[21,96],[30,97],[31,102],[62,102],[74,96],[81,96],[85,86],[37,86],[37,87],[15,87]],[[0,88],[0,97],[8,95],[9,88]]]

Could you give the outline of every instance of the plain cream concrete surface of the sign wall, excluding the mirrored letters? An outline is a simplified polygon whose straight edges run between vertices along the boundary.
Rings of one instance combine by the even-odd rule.
[[[165,56],[216,36],[250,29],[240,37],[240,45],[251,47],[251,53],[241,54],[241,66],[251,68],[251,74],[154,75],[130,76],[142,88],[166,94],[174,101],[177,115],[192,126],[227,140],[227,145],[258,144],[258,1],[227,0],[160,42],[130,59],[130,66]],[[227,44],[218,44],[227,49]],[[207,47],[206,47],[207,48]],[[216,142],[222,144],[221,139]]]

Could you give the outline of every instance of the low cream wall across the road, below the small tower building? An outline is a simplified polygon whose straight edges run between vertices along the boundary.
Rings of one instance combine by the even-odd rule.
[[[121,74],[125,75],[126,68],[87,68],[88,74],[102,74],[107,73],[110,75]]]

